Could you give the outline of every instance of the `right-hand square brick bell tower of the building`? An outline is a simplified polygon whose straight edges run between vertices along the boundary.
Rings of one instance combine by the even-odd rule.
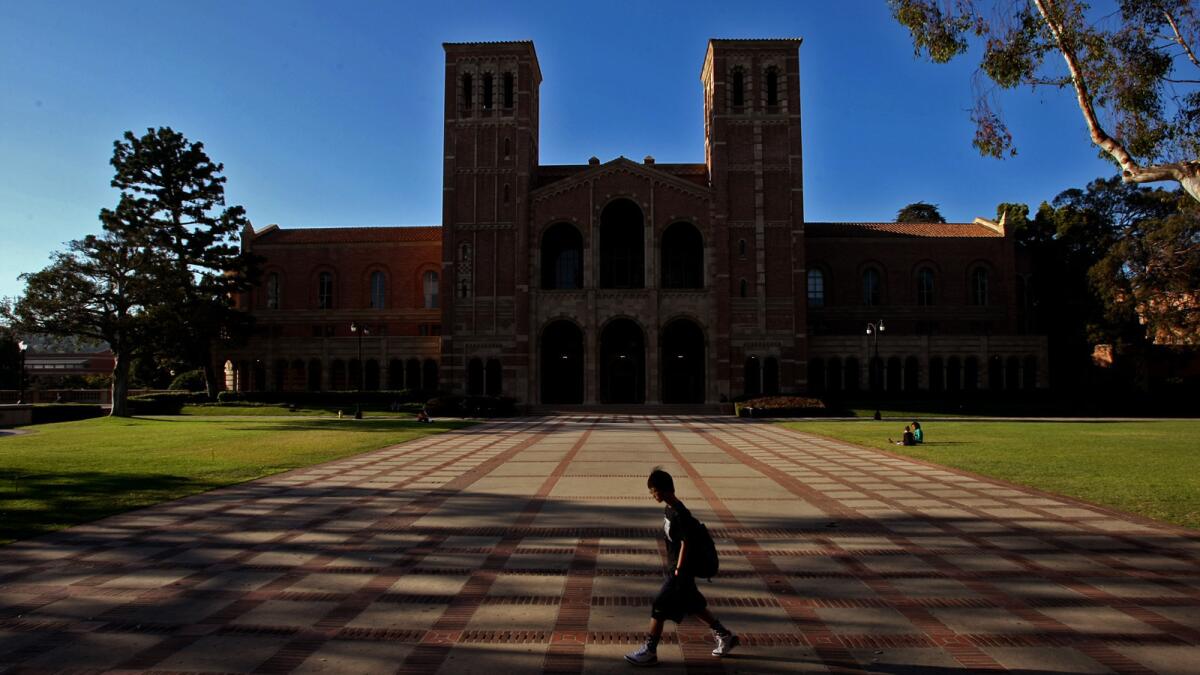
[[[799,47],[799,38],[710,40],[701,71],[721,287],[718,376],[732,392],[806,386]]]

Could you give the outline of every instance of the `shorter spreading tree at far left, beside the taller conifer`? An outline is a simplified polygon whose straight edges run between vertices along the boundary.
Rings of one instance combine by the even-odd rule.
[[[115,357],[110,414],[127,417],[130,364],[145,342],[145,307],[162,297],[161,270],[162,259],[146,239],[88,235],[68,243],[46,269],[23,274],[25,294],[2,309],[4,318],[23,333],[107,342]]]

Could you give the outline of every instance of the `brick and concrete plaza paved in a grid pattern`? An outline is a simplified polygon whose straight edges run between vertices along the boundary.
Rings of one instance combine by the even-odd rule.
[[[730,418],[488,423],[0,549],[0,673],[607,673],[709,525],[664,671],[1195,673],[1200,536]]]

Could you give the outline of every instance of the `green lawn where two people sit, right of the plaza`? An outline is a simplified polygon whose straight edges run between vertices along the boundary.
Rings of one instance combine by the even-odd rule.
[[[904,422],[781,424],[1200,528],[1200,420],[932,422],[908,448]]]

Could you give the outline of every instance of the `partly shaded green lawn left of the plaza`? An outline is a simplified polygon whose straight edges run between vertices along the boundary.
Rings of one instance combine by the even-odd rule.
[[[88,419],[0,437],[0,543],[467,426],[410,419]]]

